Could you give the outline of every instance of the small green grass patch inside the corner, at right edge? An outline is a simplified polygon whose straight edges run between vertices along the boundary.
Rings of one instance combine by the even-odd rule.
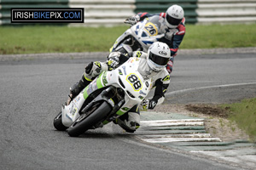
[[[253,142],[256,142],[256,98],[243,99],[241,103],[221,105],[229,111],[229,119],[236,122]]]

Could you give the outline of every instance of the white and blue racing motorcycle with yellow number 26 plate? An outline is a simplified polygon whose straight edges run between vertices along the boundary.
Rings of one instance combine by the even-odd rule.
[[[114,42],[113,47],[109,52],[119,51],[122,54],[130,53],[133,51],[148,52],[149,46],[158,42],[165,34],[159,34],[160,22],[159,16],[146,18],[136,25],[131,26]]]

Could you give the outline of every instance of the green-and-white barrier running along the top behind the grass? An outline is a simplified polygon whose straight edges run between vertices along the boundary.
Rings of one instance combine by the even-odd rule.
[[[0,25],[10,24],[10,8],[84,8],[83,26],[114,26],[138,12],[166,12],[172,4],[184,8],[186,23],[256,23],[255,0],[0,0]]]

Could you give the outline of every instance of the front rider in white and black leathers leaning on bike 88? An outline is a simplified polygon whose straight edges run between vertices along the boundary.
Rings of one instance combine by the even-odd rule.
[[[166,89],[170,83],[170,75],[166,71],[166,65],[171,57],[170,48],[163,42],[154,42],[148,48],[148,54],[137,51],[130,54],[132,57],[141,58],[138,71],[144,79],[152,78],[153,86],[155,87],[154,97],[152,99],[144,99],[142,102],[143,109],[154,109],[156,105],[160,105],[165,98]],[[93,79],[102,73],[102,71],[110,71],[118,65],[122,65],[131,56],[129,54],[121,54],[113,52],[108,55],[107,62],[90,62],[85,67],[82,79],[70,88],[70,101],[75,98]],[[149,85],[148,85],[148,88]],[[140,126],[140,111],[139,105],[135,105],[131,110],[127,111],[123,116],[119,116],[114,123],[123,127],[126,132],[133,133]]]

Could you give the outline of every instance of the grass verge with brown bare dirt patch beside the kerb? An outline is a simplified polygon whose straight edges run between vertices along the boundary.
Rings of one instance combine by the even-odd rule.
[[[205,116],[218,117],[220,127],[216,127],[217,129],[229,127],[234,133],[245,132],[252,142],[256,142],[256,98],[243,99],[239,103],[223,105],[185,105],[185,109]],[[214,126],[214,122],[211,126]],[[237,131],[236,126],[242,131]],[[224,135],[224,132],[218,134]],[[237,136],[237,134],[234,134],[234,136]],[[239,139],[240,137],[236,138]]]

